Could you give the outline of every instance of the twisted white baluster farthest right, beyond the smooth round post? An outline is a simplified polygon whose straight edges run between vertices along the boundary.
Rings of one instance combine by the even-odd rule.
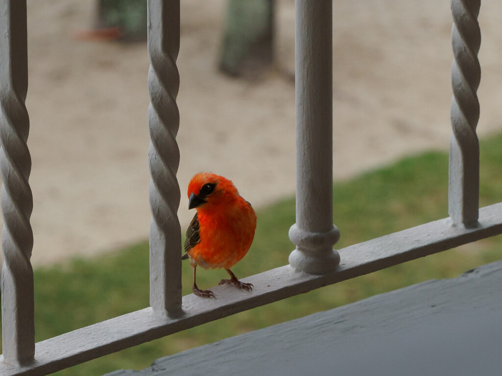
[[[477,225],[479,209],[479,119],[477,88],[481,68],[477,53],[481,32],[477,22],[480,0],[452,0],[453,96],[450,118],[448,213],[456,225]]]

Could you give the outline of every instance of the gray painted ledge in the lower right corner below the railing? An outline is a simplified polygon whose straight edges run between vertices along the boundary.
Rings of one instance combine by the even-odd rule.
[[[105,376],[497,375],[502,261]]]

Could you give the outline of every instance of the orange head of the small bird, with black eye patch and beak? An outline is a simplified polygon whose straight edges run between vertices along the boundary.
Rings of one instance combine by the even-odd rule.
[[[212,172],[195,174],[188,184],[187,194],[188,209],[220,205],[239,197],[231,180]]]

